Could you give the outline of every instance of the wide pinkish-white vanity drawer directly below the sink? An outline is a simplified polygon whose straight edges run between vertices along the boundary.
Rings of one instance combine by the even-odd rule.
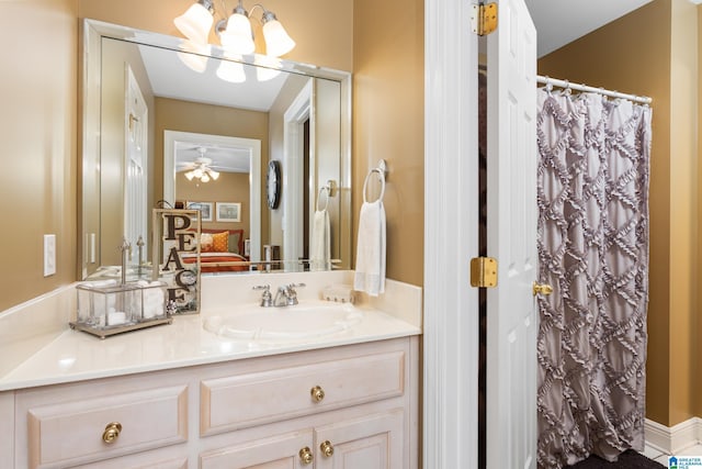
[[[201,382],[200,432],[212,435],[401,395],[405,353],[389,351]],[[315,400],[312,390],[324,392]]]

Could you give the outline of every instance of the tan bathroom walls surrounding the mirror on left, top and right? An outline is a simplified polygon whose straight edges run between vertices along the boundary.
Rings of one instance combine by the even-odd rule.
[[[14,91],[3,103],[4,150],[22,158],[4,158],[5,170],[0,175],[0,193],[15,202],[8,208],[7,216],[14,221],[13,226],[21,226],[2,234],[4,245],[13,249],[5,256],[12,269],[0,273],[7,292],[0,297],[0,311],[77,278],[78,20],[91,18],[177,34],[172,19],[189,4],[185,0],[0,3],[0,37],[8,44],[23,44],[22,48],[5,47],[2,52],[4,64],[21,64],[8,66],[2,82]],[[377,159],[388,160],[387,273],[421,284],[423,4],[271,0],[267,8],[278,14],[297,42],[286,58],[358,72],[352,187],[362,187]],[[37,34],[37,25],[47,34]],[[359,60],[358,70],[354,60]],[[162,146],[155,150],[162,152]],[[9,176],[30,166],[32,172],[21,180]],[[157,175],[159,170],[155,168]],[[355,214],[362,200],[359,189],[352,202]],[[159,187],[155,192],[161,190]],[[262,226],[262,232],[268,228]],[[58,273],[48,279],[42,277],[44,233],[56,233],[58,242]]]

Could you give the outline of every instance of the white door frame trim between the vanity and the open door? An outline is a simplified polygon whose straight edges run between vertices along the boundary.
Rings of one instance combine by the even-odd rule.
[[[477,468],[478,40],[471,3],[424,2],[423,467]]]

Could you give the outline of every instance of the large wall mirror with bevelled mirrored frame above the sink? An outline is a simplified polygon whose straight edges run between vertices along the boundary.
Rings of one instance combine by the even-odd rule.
[[[313,267],[350,267],[349,72],[93,20],[82,58],[83,278],[116,275],[123,239],[148,264],[157,204],[228,233],[237,268],[203,272],[309,269],[320,211],[329,261]]]

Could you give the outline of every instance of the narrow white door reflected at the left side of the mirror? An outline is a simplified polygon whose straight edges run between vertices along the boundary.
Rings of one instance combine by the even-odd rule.
[[[134,77],[129,66],[126,67],[126,155],[125,155],[125,186],[124,186],[124,236],[132,244],[132,253],[137,253],[136,243],[141,237],[144,241],[143,259],[148,254],[148,108],[139,83]]]

